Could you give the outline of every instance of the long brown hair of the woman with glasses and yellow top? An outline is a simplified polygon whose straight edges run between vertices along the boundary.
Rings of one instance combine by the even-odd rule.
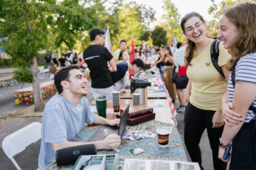
[[[183,33],[185,33],[184,24],[188,20],[190,20],[190,18],[193,18],[193,17],[197,17],[202,22],[205,22],[205,20],[203,20],[203,17],[200,14],[198,14],[197,12],[190,12],[190,13],[186,14],[186,16],[184,16],[182,18],[182,22],[180,22],[180,26],[182,27]],[[194,52],[195,52],[195,43],[193,41],[190,41],[188,38],[186,38],[186,44],[188,44],[188,46],[186,46],[186,53],[184,55],[184,61],[185,61],[185,65],[191,65],[190,62],[192,61],[192,58],[194,57]]]

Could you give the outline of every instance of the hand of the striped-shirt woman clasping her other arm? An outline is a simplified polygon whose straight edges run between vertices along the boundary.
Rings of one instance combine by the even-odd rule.
[[[221,108],[223,110],[223,119],[225,124],[233,126],[234,124],[242,122],[242,115],[232,111],[232,109],[235,108],[232,103],[223,103]]]

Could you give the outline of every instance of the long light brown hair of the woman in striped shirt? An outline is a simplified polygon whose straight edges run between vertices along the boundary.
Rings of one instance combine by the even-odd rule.
[[[227,69],[231,70],[239,58],[248,52],[255,51],[256,48],[256,3],[243,2],[227,7],[222,15],[235,24],[239,29],[238,37],[229,49],[231,59],[227,64]]]

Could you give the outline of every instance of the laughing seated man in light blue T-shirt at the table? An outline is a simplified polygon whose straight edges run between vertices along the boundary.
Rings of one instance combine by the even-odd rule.
[[[113,150],[120,146],[121,139],[116,134],[111,134],[101,141],[72,141],[84,129],[85,123],[115,126],[120,120],[107,120],[91,112],[85,97],[87,80],[78,66],[64,67],[55,74],[54,82],[58,94],[52,97],[44,108],[39,169],[46,169],[47,165],[55,160],[55,152],[62,148],[89,143],[94,143],[97,150]]]

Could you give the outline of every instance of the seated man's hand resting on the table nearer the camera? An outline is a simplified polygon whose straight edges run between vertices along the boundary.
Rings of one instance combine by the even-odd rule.
[[[111,134],[102,140],[104,150],[113,150],[120,146],[121,137],[117,134]]]

